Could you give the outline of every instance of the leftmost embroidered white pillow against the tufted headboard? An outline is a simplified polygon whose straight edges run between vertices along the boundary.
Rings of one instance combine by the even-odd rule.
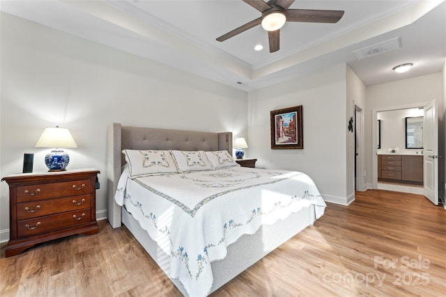
[[[123,154],[129,166],[130,178],[178,172],[168,150],[123,150]]]

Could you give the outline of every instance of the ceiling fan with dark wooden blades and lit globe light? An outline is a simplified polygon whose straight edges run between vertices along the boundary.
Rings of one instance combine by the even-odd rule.
[[[344,15],[344,10],[289,9],[294,1],[270,0],[266,3],[263,0],[243,0],[259,10],[262,16],[220,36],[217,41],[224,41],[261,24],[268,31],[270,53],[273,53],[279,50],[280,28],[285,22],[336,23]]]

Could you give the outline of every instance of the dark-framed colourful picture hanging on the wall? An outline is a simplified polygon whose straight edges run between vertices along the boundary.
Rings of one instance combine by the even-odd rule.
[[[271,111],[271,149],[303,149],[302,105]]]

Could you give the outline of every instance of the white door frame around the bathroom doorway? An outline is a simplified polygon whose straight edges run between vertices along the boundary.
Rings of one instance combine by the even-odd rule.
[[[424,107],[429,102],[420,102],[399,106],[380,107],[371,110],[371,188],[378,188],[378,112],[380,111],[396,111],[398,109],[417,109]]]

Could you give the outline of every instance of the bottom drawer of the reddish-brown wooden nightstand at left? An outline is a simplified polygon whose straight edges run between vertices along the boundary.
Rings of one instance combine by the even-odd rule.
[[[52,230],[60,230],[65,227],[89,223],[91,220],[91,209],[69,211],[63,214],[30,218],[29,220],[17,221],[17,235],[29,236],[41,234]]]

